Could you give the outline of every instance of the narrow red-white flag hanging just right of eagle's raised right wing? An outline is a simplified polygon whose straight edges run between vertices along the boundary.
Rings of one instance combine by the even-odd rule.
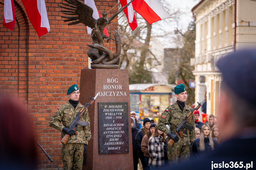
[[[131,0],[119,0],[122,7],[127,5]],[[128,7],[124,9],[124,13],[129,21],[129,25],[132,30],[134,30],[138,25],[136,21],[136,17],[133,11],[133,6],[130,4]]]

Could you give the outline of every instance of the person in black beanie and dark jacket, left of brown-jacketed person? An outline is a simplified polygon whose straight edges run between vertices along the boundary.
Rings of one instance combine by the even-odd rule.
[[[143,120],[143,127],[139,130],[139,132],[137,133],[136,137],[135,137],[135,143],[136,143],[136,147],[138,150],[138,157],[141,160],[141,164],[143,167],[143,170],[147,170],[147,165],[145,162],[145,157],[144,157],[144,153],[141,151],[141,141],[142,138],[144,137],[144,135],[147,134],[147,132],[149,131],[150,125],[151,125],[151,121],[149,118],[144,118]]]

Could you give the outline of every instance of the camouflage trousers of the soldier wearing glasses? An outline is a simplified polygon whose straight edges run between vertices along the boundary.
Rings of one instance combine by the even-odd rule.
[[[82,143],[62,145],[61,160],[63,162],[63,170],[82,170],[84,145]]]

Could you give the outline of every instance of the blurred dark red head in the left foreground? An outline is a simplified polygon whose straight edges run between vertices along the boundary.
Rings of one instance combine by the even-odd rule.
[[[0,115],[0,169],[35,169],[36,143],[28,111],[18,99],[0,93]]]

